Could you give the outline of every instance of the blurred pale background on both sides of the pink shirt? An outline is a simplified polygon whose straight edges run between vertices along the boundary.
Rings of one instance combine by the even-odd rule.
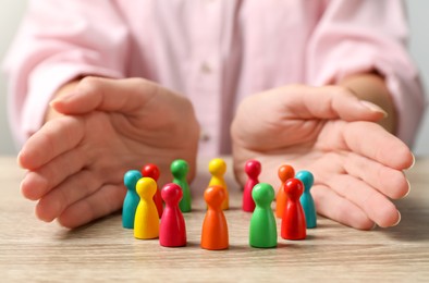
[[[73,1],[73,0],[71,0]],[[27,1],[3,0],[0,4],[0,61],[10,46],[17,29]],[[410,53],[421,71],[427,93],[429,94],[429,1],[407,0],[410,25]],[[0,76],[0,155],[15,155],[17,147],[10,135],[7,120],[7,82]],[[414,151],[416,155],[429,155],[429,114],[424,119]]]

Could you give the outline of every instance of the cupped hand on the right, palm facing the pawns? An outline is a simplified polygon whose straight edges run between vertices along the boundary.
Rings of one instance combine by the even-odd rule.
[[[368,230],[392,226],[401,214],[408,147],[378,125],[385,113],[340,86],[291,85],[246,98],[231,127],[234,171],[244,184],[248,159],[262,163],[260,180],[280,184],[283,163],[315,175],[311,194],[320,214]]]

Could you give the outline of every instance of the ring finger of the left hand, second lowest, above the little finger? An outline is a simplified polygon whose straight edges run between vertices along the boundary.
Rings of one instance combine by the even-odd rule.
[[[91,195],[100,186],[101,183],[94,177],[94,173],[79,171],[44,196],[36,206],[36,214],[40,220],[50,222],[69,206]]]

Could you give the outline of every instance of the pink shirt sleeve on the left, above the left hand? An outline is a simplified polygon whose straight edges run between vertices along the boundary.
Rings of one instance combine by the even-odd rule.
[[[29,1],[3,65],[16,142],[42,125],[63,84],[86,74],[124,77],[128,35],[113,0]]]

